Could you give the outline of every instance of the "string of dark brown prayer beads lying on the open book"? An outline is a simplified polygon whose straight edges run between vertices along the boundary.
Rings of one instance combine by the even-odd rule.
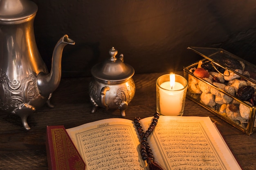
[[[152,150],[148,144],[148,137],[154,131],[155,126],[157,126],[158,119],[159,119],[159,113],[155,113],[154,118],[153,118],[150,126],[148,127],[148,130],[146,130],[145,133],[143,132],[143,129],[140,125],[140,122],[139,122],[140,118],[135,117],[135,119],[133,120],[135,123],[135,126],[137,127],[137,131],[139,132],[139,136],[141,138],[141,142],[140,142],[141,157],[144,161],[147,161],[148,163],[154,162],[154,156],[153,156]]]

